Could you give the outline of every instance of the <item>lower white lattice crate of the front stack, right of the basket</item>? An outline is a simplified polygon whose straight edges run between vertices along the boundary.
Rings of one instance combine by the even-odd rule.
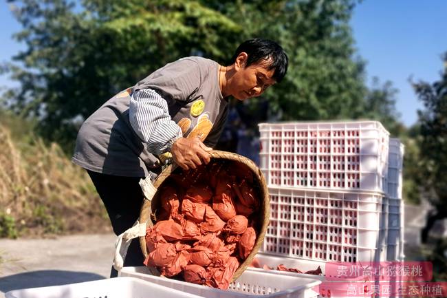
[[[382,195],[273,187],[269,191],[264,253],[339,262],[380,259]]]

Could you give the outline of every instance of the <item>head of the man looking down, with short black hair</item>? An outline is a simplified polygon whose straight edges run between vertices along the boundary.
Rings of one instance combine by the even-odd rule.
[[[250,39],[237,47],[232,57],[235,75],[232,96],[239,100],[259,96],[287,72],[288,58],[283,48],[268,39]]]

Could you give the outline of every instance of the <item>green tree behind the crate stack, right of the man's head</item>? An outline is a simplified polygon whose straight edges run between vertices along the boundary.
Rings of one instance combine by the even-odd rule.
[[[212,1],[210,5],[244,28],[243,39],[263,36],[285,48],[290,58],[287,76],[259,99],[269,103],[270,114],[279,120],[321,120],[362,114],[364,63],[356,57],[349,26],[355,2]],[[262,106],[258,100],[246,105]]]

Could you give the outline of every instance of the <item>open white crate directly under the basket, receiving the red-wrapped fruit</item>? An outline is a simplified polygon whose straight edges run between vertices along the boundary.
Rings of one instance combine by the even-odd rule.
[[[249,297],[318,297],[318,285],[321,281],[308,277],[280,276],[272,273],[247,269],[228,290],[219,290],[208,286],[190,284],[185,281],[151,275],[145,266],[124,267],[120,276],[131,276],[154,284],[188,292],[208,298],[249,298]],[[175,296],[173,296],[175,297]]]

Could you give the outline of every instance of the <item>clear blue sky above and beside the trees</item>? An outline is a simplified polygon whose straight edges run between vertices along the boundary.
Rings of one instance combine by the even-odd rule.
[[[364,0],[351,20],[358,54],[367,61],[367,82],[373,76],[399,89],[397,110],[405,125],[417,120],[422,105],[411,89],[414,81],[437,81],[441,54],[447,51],[447,0]],[[20,30],[7,3],[0,6],[0,62],[22,48],[11,38]],[[0,76],[0,86],[11,85]]]

